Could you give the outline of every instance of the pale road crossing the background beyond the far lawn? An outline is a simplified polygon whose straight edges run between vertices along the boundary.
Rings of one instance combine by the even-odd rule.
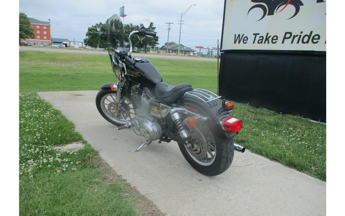
[[[37,48],[37,47],[19,47],[19,51],[39,51],[39,52],[54,52],[54,53],[80,53],[80,54],[102,54],[108,55],[104,51],[93,50],[72,50],[63,48]],[[185,57],[185,56],[171,56],[171,55],[153,55],[144,53],[132,53],[132,57],[144,58],[167,58],[167,59],[182,59],[182,60],[195,60],[195,61],[217,61],[217,58],[202,58],[202,57]]]

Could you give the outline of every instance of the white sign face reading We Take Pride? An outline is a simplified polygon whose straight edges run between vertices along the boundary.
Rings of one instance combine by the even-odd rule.
[[[326,51],[326,0],[226,0],[222,50]]]

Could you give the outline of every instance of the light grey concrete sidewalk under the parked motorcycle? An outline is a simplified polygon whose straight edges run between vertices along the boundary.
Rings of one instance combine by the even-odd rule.
[[[117,131],[95,105],[97,91],[41,92],[100,151],[100,156],[167,215],[325,215],[326,183],[248,150],[227,171],[206,177],[183,158],[177,143],[143,142]],[[236,141],[236,138],[235,138]]]

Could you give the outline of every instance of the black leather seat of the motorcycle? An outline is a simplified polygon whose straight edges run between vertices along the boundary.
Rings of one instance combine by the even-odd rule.
[[[175,102],[183,94],[192,90],[192,85],[189,83],[182,83],[172,86],[165,82],[158,82],[154,87],[154,93],[156,94],[157,98],[165,104]]]

